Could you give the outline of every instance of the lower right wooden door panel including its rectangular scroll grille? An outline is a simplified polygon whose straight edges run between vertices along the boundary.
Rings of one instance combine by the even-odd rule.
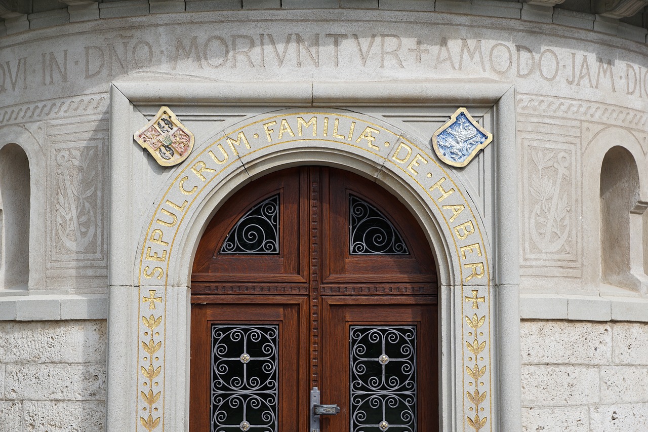
[[[380,432],[384,421],[390,431],[436,430],[434,300],[329,296],[322,306],[323,400],[340,405],[340,414],[321,420],[322,432]]]

